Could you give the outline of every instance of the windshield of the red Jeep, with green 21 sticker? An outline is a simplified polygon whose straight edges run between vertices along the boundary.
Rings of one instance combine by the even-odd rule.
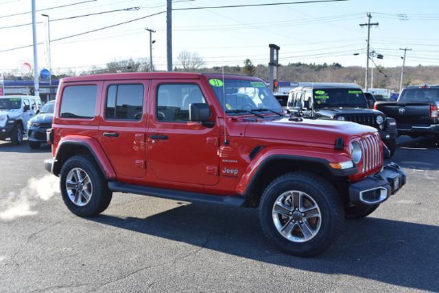
[[[275,111],[282,112],[282,107],[272,92],[262,81],[246,79],[209,79],[209,84],[215,95],[228,114],[245,114],[245,111]],[[224,105],[224,92],[226,93]]]

